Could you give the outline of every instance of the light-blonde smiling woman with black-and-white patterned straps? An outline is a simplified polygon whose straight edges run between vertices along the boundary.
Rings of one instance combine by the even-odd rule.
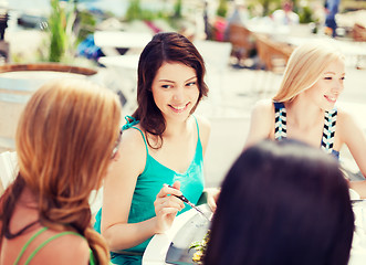
[[[264,138],[292,138],[338,157],[342,146],[346,145],[366,176],[365,134],[348,113],[336,107],[344,89],[344,61],[333,41],[297,46],[276,95],[254,106],[244,148]],[[365,181],[349,186],[366,198]]]

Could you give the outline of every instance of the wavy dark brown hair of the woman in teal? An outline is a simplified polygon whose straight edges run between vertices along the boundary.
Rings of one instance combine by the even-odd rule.
[[[157,148],[163,145],[161,134],[165,131],[166,124],[161,112],[155,104],[151,86],[158,70],[166,62],[181,63],[195,70],[199,96],[191,113],[196,110],[202,97],[208,94],[208,87],[203,81],[206,73],[203,59],[195,45],[186,36],[176,32],[165,32],[154,35],[139,57],[137,71],[138,106],[133,117],[140,120],[140,125],[146,132],[159,137],[160,145]],[[153,147],[149,141],[148,144]]]

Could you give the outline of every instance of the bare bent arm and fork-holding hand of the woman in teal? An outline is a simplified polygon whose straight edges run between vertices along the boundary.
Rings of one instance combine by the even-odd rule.
[[[118,152],[118,160],[112,165],[103,191],[101,230],[111,251],[136,246],[163,232],[166,219],[171,219],[171,208],[176,211],[184,208],[179,199],[167,197],[168,192],[181,194],[179,190],[164,190],[157,198],[159,204],[156,218],[140,223],[127,223],[137,177],[146,163],[146,149],[140,132],[135,129],[124,131]]]

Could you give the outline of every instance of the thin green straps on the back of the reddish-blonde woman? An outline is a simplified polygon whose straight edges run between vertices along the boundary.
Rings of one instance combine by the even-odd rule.
[[[27,241],[27,243],[23,245],[22,250],[20,251],[20,253],[19,253],[19,255],[18,255],[18,257],[17,257],[17,259],[15,259],[15,262],[14,262],[14,265],[18,265],[18,264],[19,264],[20,258],[21,258],[22,255],[24,254],[27,247],[32,243],[32,241],[33,241],[36,236],[39,236],[40,234],[42,234],[44,231],[46,231],[46,230],[48,230],[48,227],[40,229],[35,234],[33,234],[33,235]],[[48,243],[50,243],[51,241],[53,241],[53,240],[55,240],[55,239],[57,239],[57,237],[60,237],[60,236],[62,236],[62,235],[66,235],[66,234],[74,234],[74,235],[82,236],[81,234],[75,233],[75,232],[72,232],[72,231],[65,231],[65,232],[61,232],[61,233],[59,233],[59,234],[56,234],[56,235],[53,235],[53,236],[49,237],[48,240],[45,240],[42,244],[40,244],[40,245],[39,245],[39,246],[38,246],[38,247],[31,253],[31,255],[29,255],[29,257],[27,258],[24,265],[28,265],[28,264],[32,261],[32,258],[35,256],[35,254],[36,254],[36,253],[38,253],[43,246],[45,246]],[[82,237],[83,237],[83,236],[82,236]],[[94,255],[93,255],[92,250],[90,250],[90,253],[91,253],[91,254],[90,254],[90,265],[95,265],[95,264],[96,264],[96,261],[95,261],[95,257],[94,257]]]

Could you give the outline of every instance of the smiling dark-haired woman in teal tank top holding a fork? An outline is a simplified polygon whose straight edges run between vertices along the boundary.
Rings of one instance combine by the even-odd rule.
[[[208,93],[205,72],[179,33],[156,34],[140,55],[138,107],[123,127],[121,159],[104,183],[95,223],[115,264],[140,264],[151,236],[171,225],[185,205],[170,194],[182,192],[196,204],[203,191],[210,126],[192,114]]]

